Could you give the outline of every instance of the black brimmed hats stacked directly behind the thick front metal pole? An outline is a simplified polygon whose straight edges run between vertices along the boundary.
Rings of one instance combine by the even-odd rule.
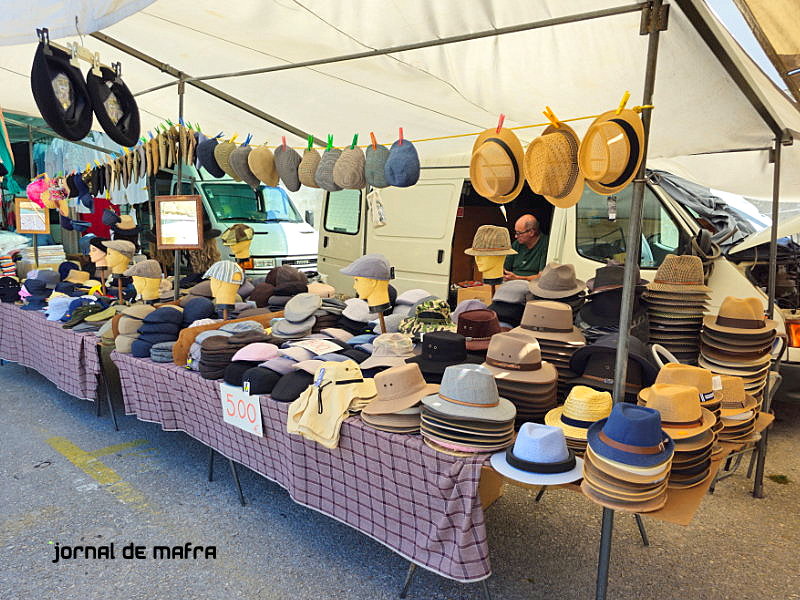
[[[575,351],[569,360],[569,368],[578,374],[570,380],[571,385],[589,387],[612,392],[617,363],[619,334],[611,333]],[[636,396],[643,387],[652,385],[658,369],[650,359],[650,352],[638,338],[628,338],[628,368],[625,379],[625,401],[636,403]]]

